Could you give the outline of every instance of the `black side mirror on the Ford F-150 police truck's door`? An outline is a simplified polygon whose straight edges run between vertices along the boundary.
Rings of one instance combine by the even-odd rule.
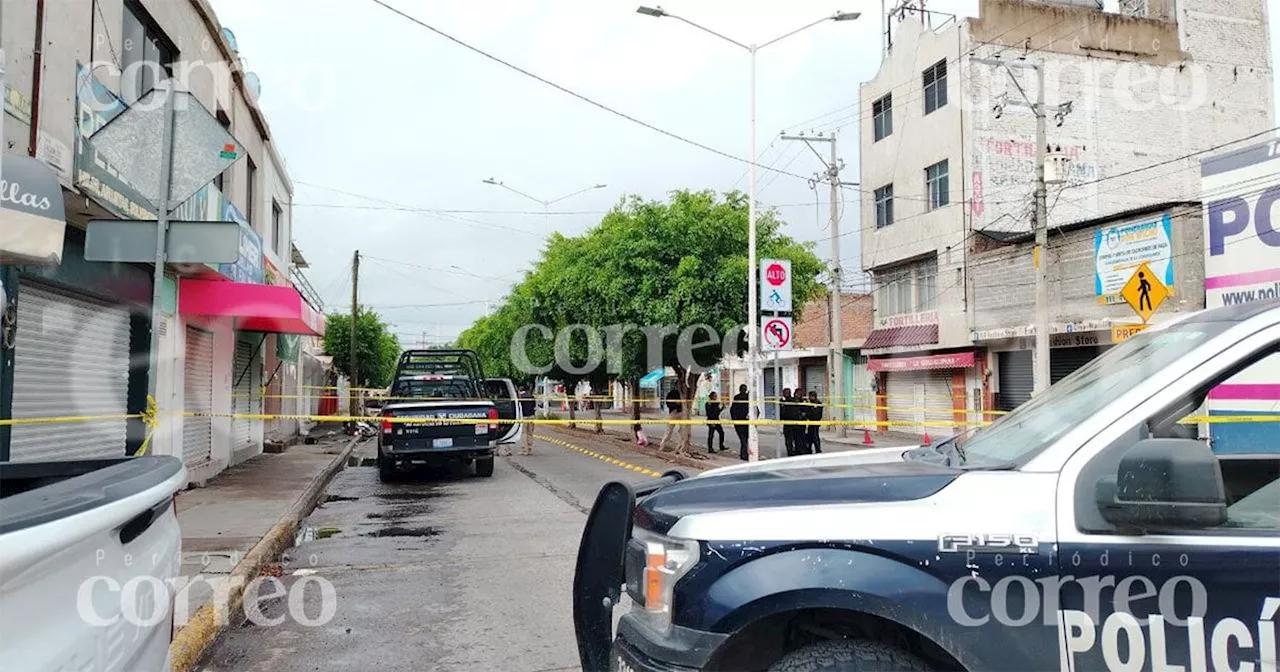
[[[1226,521],[1217,456],[1196,439],[1143,439],[1097,484],[1102,517],[1121,529],[1215,527]]]

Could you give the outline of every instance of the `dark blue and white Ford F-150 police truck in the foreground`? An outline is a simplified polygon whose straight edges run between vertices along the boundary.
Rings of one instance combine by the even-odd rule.
[[[1203,408],[1277,365],[1280,302],[1199,311],[934,445],[611,483],[582,667],[1275,671],[1276,408],[1230,454]]]

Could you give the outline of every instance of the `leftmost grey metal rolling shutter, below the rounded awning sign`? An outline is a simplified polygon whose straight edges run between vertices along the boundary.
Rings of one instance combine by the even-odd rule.
[[[18,294],[13,416],[123,416],[129,311],[36,284]],[[124,457],[128,421],[14,425],[14,462]]]

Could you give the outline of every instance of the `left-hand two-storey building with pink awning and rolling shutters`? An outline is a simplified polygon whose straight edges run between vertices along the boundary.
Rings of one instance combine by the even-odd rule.
[[[46,250],[6,253],[12,241],[0,237],[9,262],[0,417],[92,420],[3,428],[0,460],[124,456],[151,435],[148,451],[180,454],[192,481],[207,480],[260,453],[265,431],[296,430],[232,413],[261,412],[264,384],[297,387],[287,380],[297,376],[298,348],[276,334],[323,330],[291,285],[292,184],[256,101],[257,78],[207,0],[97,0],[92,12],[4,5],[5,163],[42,161],[65,205],[41,238]],[[152,434],[138,417],[152,366],[152,265],[86,260],[84,229],[93,219],[155,219],[155,206],[90,137],[164,79],[239,145],[236,163],[175,219],[227,221],[241,252],[234,262],[165,268]]]

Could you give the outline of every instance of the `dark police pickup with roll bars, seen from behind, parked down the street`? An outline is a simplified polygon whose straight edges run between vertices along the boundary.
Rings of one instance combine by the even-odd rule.
[[[515,384],[485,379],[471,351],[401,353],[387,401],[378,442],[383,481],[411,463],[461,463],[477,476],[493,476],[494,447],[521,431]]]

